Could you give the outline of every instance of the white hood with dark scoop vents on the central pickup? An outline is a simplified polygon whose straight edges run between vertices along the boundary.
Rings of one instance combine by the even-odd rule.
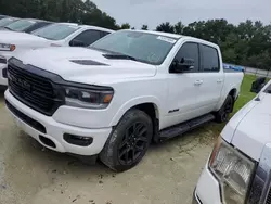
[[[43,48],[20,53],[24,64],[49,71],[63,79],[83,84],[111,84],[112,79],[127,80],[151,77],[156,66],[132,60],[107,59],[105,52],[89,48]]]

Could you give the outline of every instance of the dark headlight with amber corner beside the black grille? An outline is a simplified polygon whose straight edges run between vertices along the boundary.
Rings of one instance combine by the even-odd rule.
[[[88,90],[75,87],[65,88],[66,105],[86,109],[105,109],[113,99],[112,90]]]

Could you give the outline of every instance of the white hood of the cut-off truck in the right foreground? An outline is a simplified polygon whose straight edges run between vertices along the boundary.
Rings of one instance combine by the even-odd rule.
[[[228,123],[222,137],[251,158],[259,161],[271,142],[271,94],[261,92]]]

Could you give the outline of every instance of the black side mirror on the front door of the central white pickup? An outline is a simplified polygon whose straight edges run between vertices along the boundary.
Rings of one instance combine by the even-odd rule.
[[[194,59],[182,58],[181,61],[178,61],[176,59],[170,65],[170,72],[171,73],[185,73],[188,71],[193,71],[194,65],[195,65]]]

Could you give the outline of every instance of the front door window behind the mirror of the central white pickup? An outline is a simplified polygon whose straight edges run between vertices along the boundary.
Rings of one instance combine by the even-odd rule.
[[[194,61],[194,68],[189,71],[191,73],[199,71],[199,48],[197,43],[194,42],[185,42],[182,44],[178,53],[176,54],[175,60],[178,62],[182,62],[184,59]]]

